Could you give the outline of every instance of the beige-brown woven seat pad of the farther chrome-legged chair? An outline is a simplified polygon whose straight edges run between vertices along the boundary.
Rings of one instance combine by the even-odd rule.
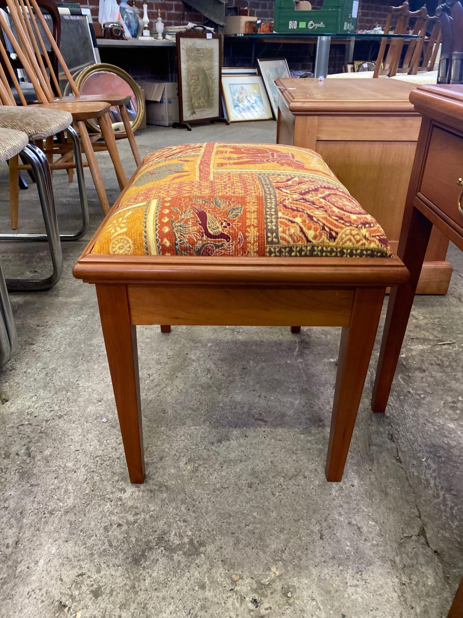
[[[23,131],[27,133],[31,141],[56,135],[67,129],[70,124],[72,124],[72,115],[58,109],[39,109],[34,106],[0,107],[0,127]]]

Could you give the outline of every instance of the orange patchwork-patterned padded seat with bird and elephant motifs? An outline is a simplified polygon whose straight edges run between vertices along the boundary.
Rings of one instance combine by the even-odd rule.
[[[92,253],[387,257],[391,249],[317,153],[202,143],[146,156]]]

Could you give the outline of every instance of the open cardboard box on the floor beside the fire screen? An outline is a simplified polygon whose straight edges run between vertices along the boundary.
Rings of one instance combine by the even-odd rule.
[[[143,80],[137,83],[144,90],[147,124],[171,127],[178,122],[177,82]]]

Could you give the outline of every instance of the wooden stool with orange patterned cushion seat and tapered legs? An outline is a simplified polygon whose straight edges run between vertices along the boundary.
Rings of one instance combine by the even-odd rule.
[[[96,284],[132,483],[144,479],[137,324],[342,326],[326,467],[341,480],[385,289],[408,271],[319,155],[238,143],[158,150],[73,274]]]

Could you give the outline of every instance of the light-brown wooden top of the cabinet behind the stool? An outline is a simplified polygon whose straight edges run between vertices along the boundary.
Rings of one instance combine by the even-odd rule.
[[[389,78],[378,79],[298,79],[280,78],[288,108],[296,115],[323,114],[405,114],[417,116],[409,101],[416,84]],[[285,88],[285,90],[282,90]]]

